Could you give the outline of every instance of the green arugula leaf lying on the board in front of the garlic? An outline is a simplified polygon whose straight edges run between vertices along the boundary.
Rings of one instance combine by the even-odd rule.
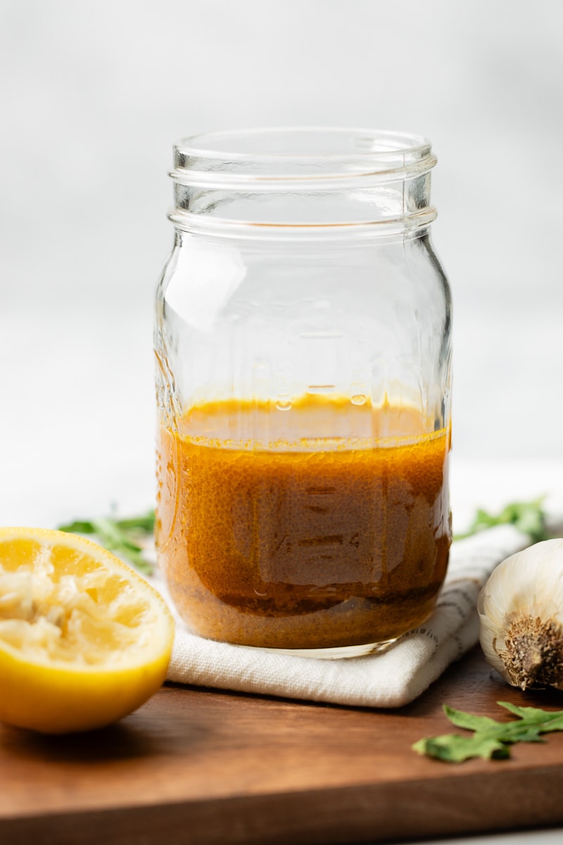
[[[461,763],[472,757],[506,760],[510,757],[510,745],[517,742],[544,742],[542,733],[563,731],[563,710],[518,707],[507,701],[496,703],[517,716],[517,721],[496,722],[488,716],[474,716],[444,705],[444,712],[450,722],[457,728],[474,731],[473,736],[444,733],[442,736],[425,737],[414,743],[413,750],[449,763]]]

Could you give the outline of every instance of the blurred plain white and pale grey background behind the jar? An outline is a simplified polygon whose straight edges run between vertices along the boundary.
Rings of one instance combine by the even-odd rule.
[[[153,504],[171,144],[265,125],[432,139],[454,521],[559,493],[562,43],[558,0],[2,0],[0,521]]]

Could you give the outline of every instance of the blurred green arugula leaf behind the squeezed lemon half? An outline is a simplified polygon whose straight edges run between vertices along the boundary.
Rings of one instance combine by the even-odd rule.
[[[142,542],[154,533],[154,510],[125,520],[98,517],[57,527],[58,531],[70,534],[95,534],[100,544],[109,551],[119,554],[145,575],[153,574],[152,564],[144,557]]]

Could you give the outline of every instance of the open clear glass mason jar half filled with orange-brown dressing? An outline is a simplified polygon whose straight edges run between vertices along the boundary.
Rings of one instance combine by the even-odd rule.
[[[347,656],[430,614],[451,542],[435,164],[371,130],[176,144],[156,537],[199,635]]]

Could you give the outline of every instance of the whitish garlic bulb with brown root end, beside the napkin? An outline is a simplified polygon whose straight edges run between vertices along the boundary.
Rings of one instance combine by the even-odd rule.
[[[563,690],[563,539],[503,560],[477,609],[485,657],[509,684]]]

